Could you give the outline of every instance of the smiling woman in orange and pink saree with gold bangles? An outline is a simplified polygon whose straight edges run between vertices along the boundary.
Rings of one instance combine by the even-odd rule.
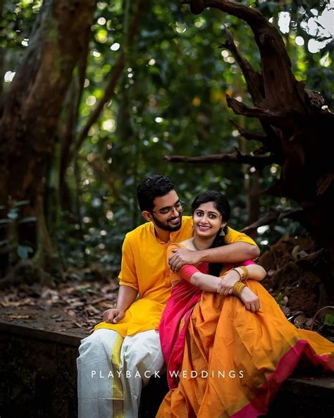
[[[194,237],[180,247],[223,245],[230,208],[221,193],[197,196],[192,216]],[[245,264],[203,263],[171,273],[173,290],[159,328],[171,391],[158,418],[259,417],[299,360],[334,370],[334,344],[290,324],[258,282],[263,269]]]

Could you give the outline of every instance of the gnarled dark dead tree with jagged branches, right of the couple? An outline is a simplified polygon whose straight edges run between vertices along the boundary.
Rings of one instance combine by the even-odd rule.
[[[319,262],[322,266],[318,266],[318,274],[326,285],[328,296],[333,297],[334,217],[331,201],[334,192],[334,114],[325,106],[320,93],[306,90],[304,83],[295,79],[282,37],[260,11],[228,0],[186,0],[186,3],[190,4],[194,14],[202,13],[204,8],[218,8],[245,20],[252,28],[261,55],[261,73],[257,73],[240,54],[228,30],[223,46],[230,49],[240,66],[254,107],[229,96],[226,99],[235,114],[258,118],[265,135],[239,128],[246,139],[262,143],[249,155],[235,152],[205,157],[168,156],[167,159],[197,163],[233,161],[258,168],[279,164],[280,179],[271,192],[293,199],[302,208],[298,213],[299,221],[307,227],[316,245],[326,249],[327,262]],[[295,216],[297,212],[291,211],[291,214]]]

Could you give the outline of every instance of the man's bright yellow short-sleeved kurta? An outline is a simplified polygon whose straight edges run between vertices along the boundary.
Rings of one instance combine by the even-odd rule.
[[[167,247],[171,242],[181,242],[191,236],[191,216],[183,216],[180,230],[171,232],[168,242],[156,238],[152,222],[144,223],[128,233],[123,242],[120,285],[135,288],[140,297],[130,305],[124,318],[117,324],[101,322],[94,330],[109,328],[125,337],[158,329],[171,291],[170,270],[166,261]],[[252,238],[232,228],[228,228],[225,242],[256,245]]]

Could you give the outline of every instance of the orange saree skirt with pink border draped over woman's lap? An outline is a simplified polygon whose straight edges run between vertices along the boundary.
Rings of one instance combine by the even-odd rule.
[[[166,312],[172,307],[169,304],[178,305],[178,294],[185,298],[185,285],[190,283],[175,285]],[[184,289],[178,292],[177,286]],[[163,400],[158,418],[259,417],[266,414],[280,385],[299,362],[334,370],[333,343],[290,324],[260,283],[249,280],[247,286],[260,299],[256,314],[248,312],[237,297],[190,292],[194,307],[188,306],[184,312],[187,330],[182,328],[187,321],[180,321],[170,356],[172,364],[168,364],[168,374],[174,370],[174,377],[169,376],[170,387],[175,389]],[[163,329],[166,321],[161,324],[163,345],[168,334]],[[180,360],[178,345],[182,345],[183,332],[185,347]],[[180,380],[176,385],[178,362]]]

